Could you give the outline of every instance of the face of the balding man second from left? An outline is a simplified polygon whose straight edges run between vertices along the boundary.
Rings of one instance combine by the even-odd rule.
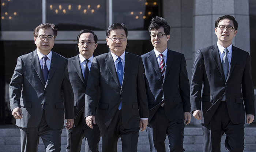
[[[84,45],[80,44],[84,42]],[[88,46],[87,42],[91,42],[91,45]],[[78,49],[79,53],[85,58],[89,59],[93,56],[94,50],[97,48],[98,43],[95,43],[93,33],[82,33],[79,37]]]

